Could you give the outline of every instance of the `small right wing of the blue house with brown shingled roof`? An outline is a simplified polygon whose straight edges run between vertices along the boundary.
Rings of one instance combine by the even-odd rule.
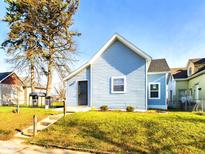
[[[161,93],[159,94],[159,99],[150,98],[151,86],[156,83],[158,83],[159,92]],[[167,109],[167,104],[173,103],[174,80],[165,59],[154,59],[151,61],[148,69],[148,84],[148,108]]]

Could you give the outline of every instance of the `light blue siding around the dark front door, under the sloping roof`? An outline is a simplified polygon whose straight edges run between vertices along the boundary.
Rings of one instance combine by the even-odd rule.
[[[90,67],[79,72],[67,81],[66,104],[67,106],[78,106],[78,81],[88,81],[88,106],[90,105]]]

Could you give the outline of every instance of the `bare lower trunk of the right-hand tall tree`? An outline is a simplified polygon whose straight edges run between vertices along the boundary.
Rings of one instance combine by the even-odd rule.
[[[51,96],[51,90],[52,90],[52,62],[49,61],[48,64],[48,76],[47,76],[47,86],[46,86],[46,96]]]

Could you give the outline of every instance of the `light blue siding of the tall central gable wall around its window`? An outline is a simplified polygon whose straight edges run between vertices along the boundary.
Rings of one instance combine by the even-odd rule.
[[[111,78],[126,77],[126,93],[111,93]],[[122,43],[115,41],[92,64],[92,106],[99,108],[146,109],[146,61]]]

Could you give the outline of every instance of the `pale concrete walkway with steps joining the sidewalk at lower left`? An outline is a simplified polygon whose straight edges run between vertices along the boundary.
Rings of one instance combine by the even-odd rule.
[[[70,113],[68,113],[70,114]],[[46,129],[63,117],[63,114],[50,115],[37,123],[37,132]],[[45,148],[36,145],[25,144],[24,141],[32,136],[33,126],[28,127],[22,132],[17,133],[13,139],[0,141],[0,154],[88,154],[72,150]]]

